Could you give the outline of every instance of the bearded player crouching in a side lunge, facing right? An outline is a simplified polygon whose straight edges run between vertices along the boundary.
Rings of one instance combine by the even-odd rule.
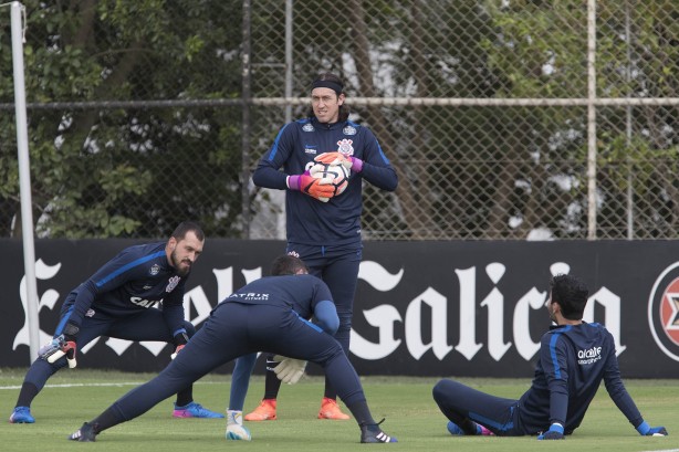
[[[184,222],[166,242],[129,246],[73,290],[61,308],[54,339],[27,372],[12,423],[33,423],[31,402],[61,368],[75,367],[75,350],[100,336],[173,343],[175,354],[196,329],[184,319],[184,287],[202,252],[205,234]],[[155,305],[163,303],[163,309]],[[223,418],[194,401],[192,387],[177,388],[175,418]]]

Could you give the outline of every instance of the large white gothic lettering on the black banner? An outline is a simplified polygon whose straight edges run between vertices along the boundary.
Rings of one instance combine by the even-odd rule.
[[[50,280],[60,272],[61,266],[61,263],[56,265],[46,265],[42,260],[38,260],[35,262],[35,276],[43,281]],[[484,346],[484,343],[478,341],[476,328],[477,311],[479,307],[484,307],[488,313],[487,347],[489,355],[495,361],[500,361],[513,345],[523,359],[526,361],[532,359],[540,349],[540,343],[533,341],[530,332],[530,318],[534,312],[544,309],[547,293],[531,287],[519,298],[514,304],[512,314],[513,343],[505,341],[504,307],[506,301],[504,299],[504,295],[497,287],[505,273],[505,266],[501,263],[492,262],[488,264],[484,270],[493,287],[480,303],[477,303],[477,267],[451,269],[451,272],[457,275],[460,287],[458,294],[459,340],[455,347],[448,344],[448,309],[449,306],[453,306],[455,303],[449,303],[445,294],[437,292],[431,286],[426,286],[426,288],[405,307],[405,318],[401,317],[399,309],[391,304],[382,304],[370,309],[355,313],[355,316],[363,315],[367,324],[377,329],[378,337],[377,341],[373,343],[365,339],[355,329],[352,329],[351,351],[358,358],[367,360],[377,360],[388,357],[401,346],[403,340],[396,338],[396,332],[397,324],[403,324],[405,346],[410,356],[416,360],[420,359],[429,350],[431,350],[439,360],[443,360],[453,349],[457,349],[467,360],[471,360]],[[556,262],[550,266],[550,270],[552,274],[567,273],[570,267],[563,262]],[[196,313],[196,316],[190,318],[191,323],[195,325],[208,318],[212,307],[233,292],[233,267],[213,269],[212,273],[217,281],[216,299],[211,299],[201,286],[196,286],[184,295],[186,318],[189,318],[192,312]],[[396,274],[391,274],[377,262],[364,261],[361,263],[358,277],[366,282],[373,290],[388,293],[398,286],[403,280],[404,273],[404,269],[399,269]],[[250,283],[261,277],[262,269],[241,270],[241,274],[244,276],[246,283]],[[27,312],[25,277],[21,280],[19,292],[23,309]],[[59,296],[55,290],[48,288],[39,299],[39,312],[43,308],[53,309],[59,301]],[[508,303],[509,306],[512,306],[511,301]],[[602,286],[589,297],[584,313],[584,319],[586,322],[592,322],[594,319],[596,305],[604,307],[604,325],[606,325],[606,328],[613,335],[616,353],[619,356],[626,349],[626,346],[621,345],[620,341],[620,297],[605,286]],[[422,312],[431,313],[430,334],[425,334]],[[542,334],[542,332],[537,332],[537,334]],[[425,343],[424,337],[430,337],[431,339]],[[40,332],[41,343],[46,343],[50,339],[51,334],[42,330]],[[82,350],[79,350],[79,353],[86,353],[97,341],[98,338],[90,343]],[[106,346],[111,347],[117,355],[124,354],[132,344],[133,343],[129,340],[114,338],[109,338],[106,341]],[[14,337],[12,349],[15,350],[20,345],[29,345],[28,318]],[[147,348],[154,356],[158,356],[163,348],[166,347],[166,344],[160,341],[142,341],[140,345]]]

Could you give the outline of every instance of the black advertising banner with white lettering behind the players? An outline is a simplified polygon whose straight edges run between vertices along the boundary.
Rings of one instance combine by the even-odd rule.
[[[64,297],[132,240],[38,240],[40,338],[50,340]],[[268,274],[282,241],[208,239],[187,283],[198,328],[233,290]],[[0,240],[6,264],[0,367],[27,367],[29,329],[22,243]],[[679,242],[366,242],[354,303],[351,359],[359,375],[531,377],[550,326],[550,277],[589,287],[585,320],[604,324],[626,378],[679,377]],[[102,337],[79,366],[157,371],[163,343]],[[264,351],[264,350],[262,350]],[[262,361],[262,359],[260,359]],[[232,365],[218,371],[230,372]],[[317,366],[309,372],[320,375]],[[258,362],[257,372],[263,370]]]

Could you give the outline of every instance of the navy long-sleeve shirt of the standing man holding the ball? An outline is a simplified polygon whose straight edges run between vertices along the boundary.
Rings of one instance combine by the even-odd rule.
[[[337,150],[362,159],[363,170],[352,174],[347,189],[328,202],[289,190],[285,196],[289,242],[307,245],[361,242],[362,180],[383,190],[396,190],[396,171],[368,128],[348,120],[322,124],[315,117],[281,128],[254,170],[252,181],[259,187],[285,190],[288,176],[303,174],[315,157]]]

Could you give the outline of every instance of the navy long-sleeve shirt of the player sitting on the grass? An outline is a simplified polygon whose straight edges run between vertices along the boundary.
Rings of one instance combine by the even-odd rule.
[[[599,324],[554,327],[541,339],[533,383],[519,401],[524,431],[534,434],[558,422],[565,432],[572,432],[581,424],[602,380],[615,404],[637,428],[641,413],[620,378],[610,333]]]

